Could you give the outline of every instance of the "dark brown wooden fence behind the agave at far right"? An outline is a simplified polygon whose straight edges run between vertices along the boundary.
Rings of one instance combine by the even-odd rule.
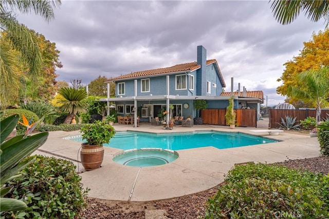
[[[321,109],[321,119],[325,120],[328,117],[329,110]],[[315,109],[298,109],[298,110],[288,110],[288,109],[270,109],[269,110],[269,127],[279,128],[281,124],[281,117],[285,120],[286,116],[295,118],[296,122],[299,123],[300,120],[305,120],[308,116],[316,117]],[[279,124],[278,124],[279,123]]]

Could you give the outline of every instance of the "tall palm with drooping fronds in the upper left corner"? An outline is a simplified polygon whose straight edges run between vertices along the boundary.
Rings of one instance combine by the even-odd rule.
[[[13,93],[16,93],[17,81],[14,78],[17,78],[17,74],[20,72],[17,70],[17,54],[13,55],[11,49],[19,53],[20,60],[28,67],[28,73],[36,75],[43,66],[40,48],[33,34],[26,26],[17,21],[15,12],[30,13],[34,11],[35,14],[40,14],[48,22],[54,18],[53,8],[60,5],[60,0],[0,1],[0,34],[2,38],[0,79],[2,90],[6,90],[0,95],[2,104],[6,103],[6,99],[12,98]],[[4,45],[5,47],[3,47]],[[3,50],[3,48],[5,49]]]

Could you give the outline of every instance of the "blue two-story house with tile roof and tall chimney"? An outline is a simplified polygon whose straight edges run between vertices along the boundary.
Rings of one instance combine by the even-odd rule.
[[[109,97],[109,82],[115,83],[116,97]],[[142,122],[148,122],[164,111],[169,112],[169,105],[174,106],[172,116],[186,118],[190,115],[194,118],[195,99],[206,99],[210,109],[223,109],[228,106],[230,97],[223,95],[226,84],[216,59],[207,60],[207,51],[203,46],[197,47],[196,62],[132,72],[109,78],[104,83],[108,83],[108,92],[107,98],[101,101],[106,101],[107,106],[114,102],[118,115],[129,114],[135,118],[139,115]],[[234,96],[236,108],[239,107],[239,98],[238,95]],[[263,97],[244,96],[244,103],[247,102],[259,107]]]

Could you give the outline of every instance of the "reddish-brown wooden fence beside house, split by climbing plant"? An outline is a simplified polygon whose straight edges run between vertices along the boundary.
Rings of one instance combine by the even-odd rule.
[[[234,109],[236,124],[242,127],[257,127],[257,111],[255,109]],[[225,126],[226,109],[201,110],[204,124]]]

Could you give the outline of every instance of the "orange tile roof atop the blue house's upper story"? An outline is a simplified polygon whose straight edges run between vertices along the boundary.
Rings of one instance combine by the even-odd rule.
[[[207,65],[210,65],[212,63],[217,63],[216,59],[210,59],[207,60]],[[143,76],[151,76],[156,74],[167,74],[167,73],[174,73],[174,72],[180,72],[180,71],[193,71],[198,68],[200,68],[201,65],[197,65],[196,62],[193,63],[185,63],[185,64],[178,64],[171,67],[166,68],[158,68],[158,69],[151,69],[151,70],[145,70],[145,71],[136,71],[129,74],[124,74],[118,77],[112,77],[104,82],[110,82],[110,81],[116,81],[118,79],[128,79],[128,78],[134,78],[134,77],[143,77]]]

